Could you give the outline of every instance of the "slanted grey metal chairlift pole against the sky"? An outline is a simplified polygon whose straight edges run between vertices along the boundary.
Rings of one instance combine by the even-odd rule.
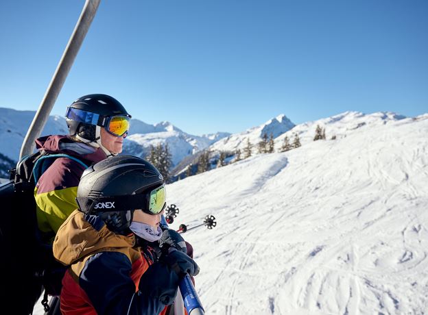
[[[45,124],[47,123],[47,119],[49,118],[53,105],[60,94],[61,88],[69,74],[75,57],[78,55],[78,51],[82,46],[86,33],[88,32],[93,18],[97,13],[99,2],[100,0],[86,0],[78,23],[75,25],[73,34],[71,34],[67,47],[65,48],[62,58],[53,74],[51,83],[45,92],[43,101],[40,103],[32,124],[29,126],[27,135],[25,136],[21,147],[21,152],[19,153],[20,160],[23,156],[29,155],[33,152],[35,147],[34,140],[40,136],[40,133],[43,131],[43,127],[45,127]]]

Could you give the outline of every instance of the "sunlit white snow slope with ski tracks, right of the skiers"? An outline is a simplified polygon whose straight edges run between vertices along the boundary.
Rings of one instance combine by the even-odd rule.
[[[206,314],[426,314],[428,115],[373,121],[167,186]]]

